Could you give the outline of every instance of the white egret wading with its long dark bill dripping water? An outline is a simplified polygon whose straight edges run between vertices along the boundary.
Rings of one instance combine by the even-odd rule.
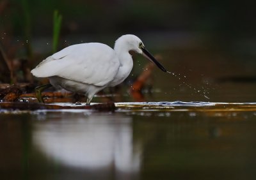
[[[129,51],[143,54],[166,72],[145,49],[140,38],[126,34],[116,40],[114,49],[102,43],[81,43],[47,57],[31,70],[34,76],[48,77],[51,83],[36,87],[36,98],[44,102],[41,91],[54,86],[56,89],[85,94],[86,104],[90,105],[93,96],[100,90],[116,86],[128,77],[133,66]]]

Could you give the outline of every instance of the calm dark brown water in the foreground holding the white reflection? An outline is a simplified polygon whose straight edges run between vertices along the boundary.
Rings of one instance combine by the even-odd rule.
[[[65,105],[65,104],[63,104]],[[2,110],[1,179],[255,179],[256,103]]]

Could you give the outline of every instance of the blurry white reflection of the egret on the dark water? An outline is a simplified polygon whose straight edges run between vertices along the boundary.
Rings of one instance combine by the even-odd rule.
[[[111,172],[115,179],[138,177],[141,150],[139,144],[133,143],[131,117],[91,114],[76,118],[67,113],[60,116],[57,121],[38,121],[33,128],[33,143],[49,159],[96,174],[102,170]]]

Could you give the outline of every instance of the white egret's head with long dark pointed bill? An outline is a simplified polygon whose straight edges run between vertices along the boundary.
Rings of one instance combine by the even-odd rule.
[[[135,51],[138,54],[142,54],[145,56],[148,60],[150,60],[152,63],[156,64],[158,68],[160,68],[162,71],[166,72],[166,69],[163,67],[162,64],[160,64],[150,52],[148,52],[147,49],[145,49],[145,45],[143,42],[138,38],[137,36],[134,36],[132,34],[126,34],[118,38],[115,43],[115,49],[122,48],[127,51]]]

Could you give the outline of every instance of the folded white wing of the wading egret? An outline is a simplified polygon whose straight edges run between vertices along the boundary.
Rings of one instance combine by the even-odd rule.
[[[36,77],[58,76],[95,86],[114,79],[120,62],[115,51],[101,43],[67,47],[42,61],[31,71]]]

